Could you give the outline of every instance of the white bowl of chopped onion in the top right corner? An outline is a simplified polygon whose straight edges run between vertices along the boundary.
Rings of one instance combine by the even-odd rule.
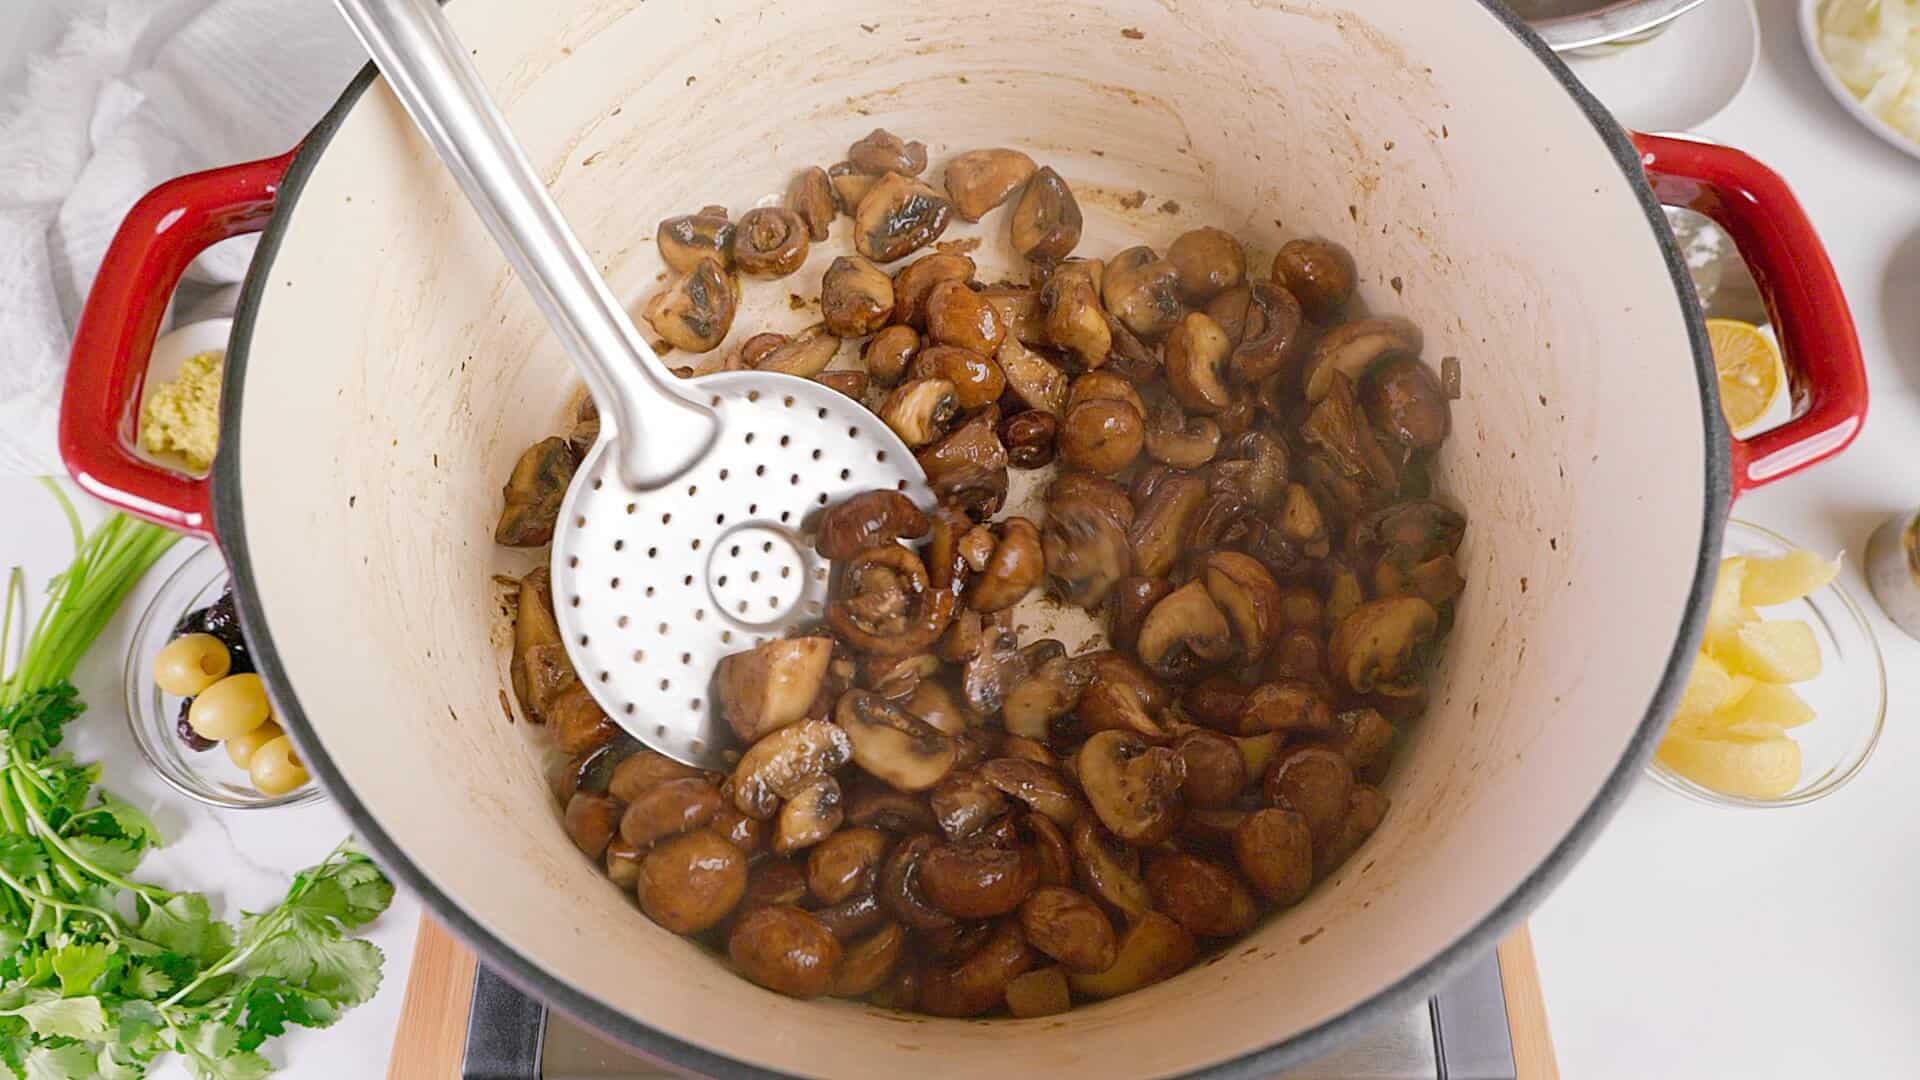
[[[1841,108],[1920,158],[1920,0],[1801,0],[1801,40]]]

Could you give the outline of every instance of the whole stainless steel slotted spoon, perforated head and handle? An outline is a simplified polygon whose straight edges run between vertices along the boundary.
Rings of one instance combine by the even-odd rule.
[[[434,0],[336,0],[534,294],[601,415],[561,503],[553,607],[574,671],[634,738],[732,767],[722,655],[816,621],[828,565],[804,528],[872,488],[931,503],[912,452],[810,379],[676,379],[593,269]]]

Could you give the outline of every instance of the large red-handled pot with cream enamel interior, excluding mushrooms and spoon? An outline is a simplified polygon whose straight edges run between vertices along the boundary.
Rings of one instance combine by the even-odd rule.
[[[1778,177],[1676,140],[1636,160],[1538,38],[1480,0],[449,12],[636,307],[660,217],[772,200],[885,125],[927,140],[935,173],[998,144],[1056,165],[1091,254],[1206,223],[1263,267],[1288,236],[1331,236],[1363,269],[1361,300],[1417,319],[1428,359],[1463,369],[1440,484],[1471,513],[1467,594],[1361,853],[1146,992],[993,1028],[902,1019],[755,988],[647,922],[561,832],[505,692],[492,578],[526,559],[493,548],[492,525],[501,479],[563,423],[574,379],[380,83],[363,75],[298,154],[134,208],[75,344],[73,475],[219,534],[305,757],[442,920],[684,1068],[1265,1076],[1409,1003],[1521,919],[1638,776],[1697,644],[1732,494],[1841,450],[1864,415],[1832,267]],[[1642,163],[1761,269],[1795,369],[1788,429],[1728,444]],[[1135,190],[1150,198],[1127,209]],[[261,227],[213,477],[159,473],[125,452],[156,304],[200,246]],[[804,321],[785,294],[810,294],[818,271],[749,296]]]

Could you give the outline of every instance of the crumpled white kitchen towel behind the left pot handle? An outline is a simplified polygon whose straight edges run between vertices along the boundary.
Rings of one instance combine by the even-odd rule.
[[[0,0],[0,4],[10,0]],[[278,154],[365,54],[326,0],[79,0],[0,102],[0,473],[61,473],[60,386],[127,209],[165,179]],[[196,281],[234,282],[253,238]]]

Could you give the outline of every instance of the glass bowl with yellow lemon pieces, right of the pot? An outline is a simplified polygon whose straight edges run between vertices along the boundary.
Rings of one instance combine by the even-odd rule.
[[[1887,673],[1839,561],[1730,521],[1720,577],[1672,723],[1647,771],[1736,807],[1811,803],[1880,742]]]

